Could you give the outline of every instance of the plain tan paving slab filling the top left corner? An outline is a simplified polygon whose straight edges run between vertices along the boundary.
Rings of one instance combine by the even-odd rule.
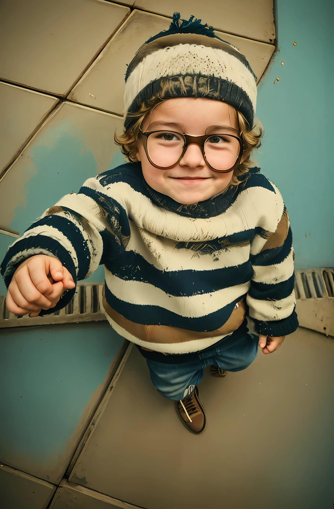
[[[103,0],[3,0],[0,79],[66,96],[130,9]]]

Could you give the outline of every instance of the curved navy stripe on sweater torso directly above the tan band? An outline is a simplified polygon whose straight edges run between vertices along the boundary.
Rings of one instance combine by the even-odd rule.
[[[181,329],[206,332],[216,330],[230,318],[235,304],[242,295],[230,304],[200,318],[187,318],[160,306],[130,304],[115,297],[105,285],[105,298],[110,307],[131,322],[143,325],[170,325]],[[212,296],[214,298],[214,296]]]

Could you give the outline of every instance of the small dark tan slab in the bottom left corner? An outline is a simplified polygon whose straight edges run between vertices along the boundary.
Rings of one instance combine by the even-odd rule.
[[[46,509],[55,486],[19,470],[0,466],[0,500],[3,509]]]

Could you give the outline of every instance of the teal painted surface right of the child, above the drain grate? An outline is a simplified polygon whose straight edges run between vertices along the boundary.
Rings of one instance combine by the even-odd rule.
[[[334,4],[278,0],[277,10],[280,51],[258,87],[257,115],[265,136],[263,154],[255,154],[254,159],[285,200],[295,267],[333,267]],[[280,81],[273,84],[276,77]]]

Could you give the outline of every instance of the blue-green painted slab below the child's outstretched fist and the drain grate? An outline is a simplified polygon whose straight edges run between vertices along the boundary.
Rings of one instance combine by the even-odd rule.
[[[124,340],[107,322],[0,330],[0,460],[60,482]]]

